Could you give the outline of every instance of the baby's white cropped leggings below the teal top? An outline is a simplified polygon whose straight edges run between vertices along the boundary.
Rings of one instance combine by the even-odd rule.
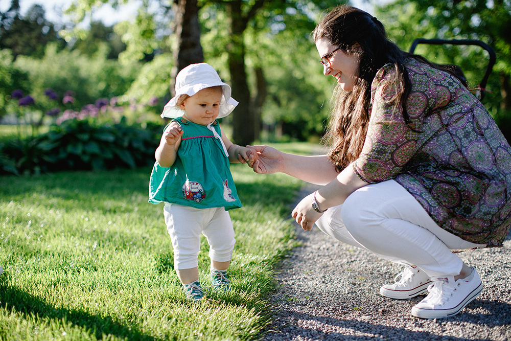
[[[236,243],[233,222],[223,207],[196,209],[166,202],[164,216],[174,247],[176,270],[198,266],[201,234],[210,244],[212,261],[227,262],[233,257]]]

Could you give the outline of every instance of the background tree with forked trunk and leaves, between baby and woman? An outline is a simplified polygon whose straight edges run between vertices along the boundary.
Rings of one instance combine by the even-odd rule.
[[[273,37],[281,31],[292,30],[298,38],[292,40],[300,40],[305,32],[307,32],[306,35],[310,34],[314,28],[315,20],[317,20],[322,10],[337,6],[340,3],[342,2],[313,1],[304,3],[280,0],[204,2],[205,5],[211,5],[225,11],[224,16],[216,15],[216,18],[220,17],[227,23],[226,27],[223,26],[227,36],[222,39],[223,43],[220,43],[220,47],[225,49],[227,54],[226,62],[230,74],[230,83],[233,86],[233,97],[240,102],[232,115],[233,140],[236,143],[245,145],[259,139],[261,106],[267,94],[266,85],[268,83],[265,79],[265,64],[262,59],[259,59],[252,60],[253,83],[256,86],[252,87],[255,89],[255,95],[251,96],[249,77],[246,70],[248,31],[250,30],[255,35],[265,34]],[[211,17],[211,15],[208,16],[208,19],[211,19]],[[219,21],[217,20],[217,25],[222,27]],[[268,31],[265,28],[271,28],[271,30]],[[215,32],[222,36],[218,29]],[[258,46],[249,46],[248,49],[250,50],[250,48],[256,54],[261,49]],[[291,48],[286,53],[292,54],[293,50],[296,49]],[[262,54],[260,53],[260,55]]]

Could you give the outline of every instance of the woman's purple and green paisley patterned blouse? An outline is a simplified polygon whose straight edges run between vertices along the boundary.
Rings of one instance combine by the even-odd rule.
[[[396,71],[387,64],[371,85],[371,117],[355,173],[368,183],[394,179],[443,229],[502,246],[511,223],[509,144],[455,77],[412,58],[405,67],[412,124],[393,105]]]

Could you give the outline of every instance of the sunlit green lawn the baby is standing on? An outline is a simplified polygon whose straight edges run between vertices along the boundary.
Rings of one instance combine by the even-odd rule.
[[[286,151],[305,150],[296,144]],[[304,152],[307,153],[307,152]],[[246,340],[270,319],[275,268],[296,245],[287,205],[301,182],[231,167],[233,290],[187,301],[150,169],[0,177],[0,339]],[[201,280],[209,268],[199,255]]]

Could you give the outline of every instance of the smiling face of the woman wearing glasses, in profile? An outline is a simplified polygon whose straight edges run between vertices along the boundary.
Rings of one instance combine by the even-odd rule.
[[[332,45],[327,39],[321,38],[316,42],[316,48],[321,58],[338,47]],[[323,65],[323,74],[334,76],[343,90],[353,90],[358,77],[360,55],[358,53],[346,54],[342,49],[339,49],[330,55],[328,60],[327,65]]]

